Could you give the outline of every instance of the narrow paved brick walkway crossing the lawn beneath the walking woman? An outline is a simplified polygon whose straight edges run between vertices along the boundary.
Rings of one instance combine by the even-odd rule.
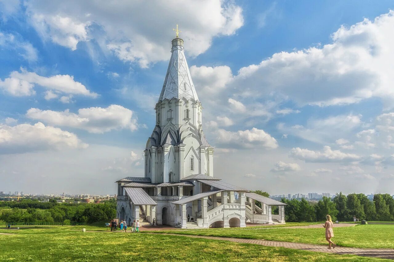
[[[286,247],[292,249],[301,249],[307,251],[341,254],[341,255],[357,255],[362,257],[379,257],[394,259],[394,249],[369,249],[369,248],[354,248],[354,247],[335,247],[335,249],[328,249],[327,246],[301,244],[292,242],[244,239],[244,238],[227,238],[216,236],[193,236],[193,235],[180,235],[180,234],[160,234],[160,235],[173,235],[173,236],[188,236],[191,238],[205,238],[213,240],[227,240],[236,243],[256,244],[269,247]]]

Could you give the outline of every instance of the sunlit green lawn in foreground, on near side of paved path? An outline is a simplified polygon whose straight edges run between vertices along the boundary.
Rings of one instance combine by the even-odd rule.
[[[39,226],[1,230],[0,233],[16,234],[0,235],[0,261],[391,261],[185,236],[99,231],[83,233],[80,228]],[[267,231],[271,230],[276,229]]]

